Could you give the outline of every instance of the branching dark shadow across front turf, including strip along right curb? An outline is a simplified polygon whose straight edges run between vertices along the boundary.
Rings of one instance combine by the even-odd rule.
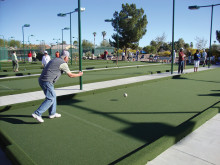
[[[112,101],[117,101],[117,100],[112,100]],[[93,114],[97,114],[97,115],[101,115],[103,117],[106,117],[107,119],[110,120],[114,120],[120,123],[125,124],[125,128],[121,129],[119,131],[119,133],[122,133],[128,137],[132,137],[134,139],[140,140],[143,142],[143,145],[136,148],[135,150],[131,151],[130,153],[125,154],[122,157],[119,157],[117,160],[114,160],[113,162],[109,163],[110,165],[113,164],[117,164],[118,162],[126,159],[127,157],[131,156],[132,154],[145,149],[148,146],[151,146],[152,144],[154,144],[154,142],[156,141],[164,141],[164,139],[166,138],[171,138],[172,140],[170,140],[169,144],[161,144],[161,145],[168,145],[171,146],[173,144],[175,144],[176,142],[178,142],[179,140],[181,140],[184,136],[188,135],[189,133],[191,133],[196,127],[197,127],[197,121],[192,121],[195,117],[199,116],[200,114],[202,114],[203,112],[205,112],[206,110],[208,110],[209,108],[218,108],[220,111],[220,107],[216,107],[217,104],[220,103],[216,102],[215,104],[207,107],[206,109],[202,110],[201,112],[100,112],[98,110],[95,109],[91,109],[88,107],[83,107],[80,105],[76,105],[76,102],[80,102],[77,99],[72,98],[71,99],[71,103],[69,104],[68,102],[62,102],[62,105],[69,105],[78,109],[81,109],[83,111],[89,112],[89,113],[93,113]],[[159,123],[159,122],[131,122],[129,120],[126,120],[125,118],[123,118],[121,115],[117,116],[117,114],[172,114],[172,113],[194,113],[195,115],[192,115],[191,118],[189,118],[186,121],[183,121],[183,123],[181,123],[178,126],[172,126],[172,125],[168,125],[165,123]],[[163,140],[161,140],[163,139]],[[159,142],[160,143],[160,142]],[[158,144],[158,143],[156,143]],[[164,147],[162,146],[162,148]],[[163,150],[163,149],[162,149]],[[158,151],[157,151],[158,152]]]

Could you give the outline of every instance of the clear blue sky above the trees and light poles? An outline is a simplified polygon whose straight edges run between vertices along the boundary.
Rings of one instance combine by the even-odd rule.
[[[147,33],[139,45],[149,45],[151,40],[166,35],[166,42],[172,40],[172,4],[173,0],[81,0],[82,39],[93,42],[93,32],[96,32],[96,44],[102,41],[102,31],[106,31],[105,39],[111,39],[113,27],[105,19],[113,17],[115,11],[121,10],[122,3],[135,3],[137,8],[143,8],[147,15]],[[200,37],[207,40],[209,47],[211,8],[189,10],[190,5],[220,4],[220,0],[175,0],[175,40],[183,38],[185,42],[193,42]],[[62,28],[69,27],[69,15],[57,17],[58,13],[74,11],[78,0],[4,0],[0,1],[0,35],[5,39],[11,36],[22,41],[22,25],[25,28],[25,41],[38,44],[36,40],[45,40],[46,44],[56,41],[53,38],[62,37]],[[215,32],[220,30],[220,6],[214,7],[212,41],[216,40]],[[70,42],[69,31],[64,31],[64,41]],[[78,37],[78,16],[72,14],[72,36]],[[2,37],[1,37],[2,38]]]

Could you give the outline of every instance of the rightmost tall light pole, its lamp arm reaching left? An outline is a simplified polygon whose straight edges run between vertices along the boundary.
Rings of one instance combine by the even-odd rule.
[[[212,7],[211,10],[211,26],[210,26],[210,41],[209,41],[209,63],[208,63],[208,68],[210,68],[210,64],[211,64],[211,54],[212,54],[212,20],[213,20],[213,7],[214,6],[218,6],[220,4],[212,4],[212,5],[207,5],[207,6],[189,6],[188,9],[190,10],[196,10],[199,9],[201,7]]]

